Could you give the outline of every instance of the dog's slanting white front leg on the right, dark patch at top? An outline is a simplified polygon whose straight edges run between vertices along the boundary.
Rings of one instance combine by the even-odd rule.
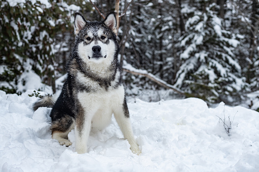
[[[128,140],[131,151],[133,153],[140,154],[141,152],[138,149],[138,145],[133,135],[126,99],[124,99],[123,105],[117,107],[114,111],[114,117],[122,130],[124,138]]]

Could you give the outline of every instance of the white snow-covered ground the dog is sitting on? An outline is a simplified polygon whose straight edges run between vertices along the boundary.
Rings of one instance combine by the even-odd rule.
[[[259,113],[220,103],[208,108],[187,98],[128,102],[134,135],[142,151],[130,145],[114,118],[103,131],[91,133],[87,154],[51,139],[50,108],[36,112],[38,98],[0,91],[0,171],[258,171]],[[232,123],[229,135],[223,120]],[[219,117],[217,117],[219,116]],[[234,118],[235,117],[235,118]]]

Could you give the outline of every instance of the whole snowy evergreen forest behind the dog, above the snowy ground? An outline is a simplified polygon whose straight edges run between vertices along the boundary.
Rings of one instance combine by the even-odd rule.
[[[246,102],[259,111],[258,0],[117,2],[127,94]],[[74,45],[74,13],[100,21],[116,1],[5,0],[0,6],[0,89],[55,93]]]

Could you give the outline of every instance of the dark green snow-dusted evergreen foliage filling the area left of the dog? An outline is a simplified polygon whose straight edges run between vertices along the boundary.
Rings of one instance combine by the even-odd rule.
[[[80,8],[64,1],[1,1],[0,6],[0,89],[24,92],[34,84],[29,81],[34,76],[55,92],[55,79],[63,72],[72,46],[73,14]]]

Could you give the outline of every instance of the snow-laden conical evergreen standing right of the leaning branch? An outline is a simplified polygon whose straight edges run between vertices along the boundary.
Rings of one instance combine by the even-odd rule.
[[[180,39],[182,64],[175,86],[209,102],[240,101],[245,81],[233,53],[238,38],[223,28],[224,20],[218,17],[216,4],[199,3],[200,6],[192,7],[192,16]]]

